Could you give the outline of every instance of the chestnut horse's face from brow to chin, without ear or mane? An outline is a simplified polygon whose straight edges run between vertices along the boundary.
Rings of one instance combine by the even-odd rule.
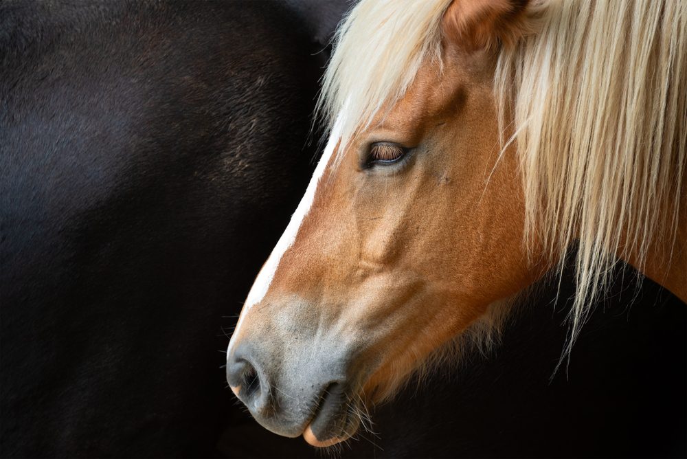
[[[320,446],[350,436],[358,403],[532,281],[512,155],[495,167],[492,76],[491,54],[447,47],[442,71],[427,65],[323,157],[229,346],[229,384],[265,427]]]

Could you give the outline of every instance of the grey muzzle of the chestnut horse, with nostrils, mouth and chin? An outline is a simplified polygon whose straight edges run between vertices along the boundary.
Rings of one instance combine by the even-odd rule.
[[[292,337],[293,338],[293,337]],[[256,346],[249,339],[227,354],[227,382],[256,421],[287,437],[303,435],[317,447],[346,440],[359,427],[359,396],[346,377],[350,359],[312,339],[295,352],[288,343]],[[317,340],[319,341],[319,340]],[[330,352],[327,352],[329,350]]]

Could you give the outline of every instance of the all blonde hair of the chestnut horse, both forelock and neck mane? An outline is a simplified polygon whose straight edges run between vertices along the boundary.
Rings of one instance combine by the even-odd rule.
[[[345,112],[342,146],[421,66],[441,65],[450,3],[362,0],[350,12],[318,101],[330,123]],[[657,238],[674,243],[685,212],[687,3],[534,3],[537,32],[497,50],[494,93],[502,131],[515,133],[524,242],[543,241],[562,264],[578,241],[570,352],[618,256],[633,254],[641,269]]]

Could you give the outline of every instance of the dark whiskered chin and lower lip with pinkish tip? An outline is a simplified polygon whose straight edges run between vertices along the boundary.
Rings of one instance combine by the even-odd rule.
[[[319,448],[346,441],[360,427],[360,419],[356,414],[359,410],[343,385],[334,383],[325,390],[315,416],[303,432],[303,438]]]

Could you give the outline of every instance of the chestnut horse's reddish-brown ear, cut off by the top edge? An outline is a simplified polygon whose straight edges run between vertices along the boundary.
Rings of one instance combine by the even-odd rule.
[[[465,49],[513,45],[528,30],[529,0],[453,0],[444,13],[444,36]]]

